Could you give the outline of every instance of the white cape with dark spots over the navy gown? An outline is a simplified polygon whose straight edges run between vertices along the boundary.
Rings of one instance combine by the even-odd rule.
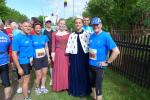
[[[75,32],[70,34],[67,43],[66,53],[70,53],[70,54],[78,53],[77,36],[78,34],[76,34]],[[84,53],[88,53],[89,51],[89,37],[90,37],[90,33],[86,31],[79,34],[79,39]]]

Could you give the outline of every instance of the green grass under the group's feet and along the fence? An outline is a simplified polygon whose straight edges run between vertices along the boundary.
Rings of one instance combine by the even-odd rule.
[[[48,77],[49,79],[49,77]],[[92,100],[91,97],[77,98],[69,96],[67,92],[52,92],[49,86],[49,80],[46,83],[50,90],[48,94],[37,96],[32,88],[32,100]],[[105,70],[103,81],[103,100],[149,100],[150,90],[141,88],[122,76]]]

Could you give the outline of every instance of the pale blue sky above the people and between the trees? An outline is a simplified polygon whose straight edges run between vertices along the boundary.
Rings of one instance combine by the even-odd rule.
[[[82,12],[89,0],[74,0],[74,15],[82,16]],[[25,14],[29,18],[39,15],[49,16],[58,12],[59,18],[73,16],[73,0],[67,0],[64,8],[64,0],[6,0],[6,5]]]

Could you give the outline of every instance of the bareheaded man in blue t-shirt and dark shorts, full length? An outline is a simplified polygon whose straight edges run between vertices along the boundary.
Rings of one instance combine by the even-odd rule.
[[[15,36],[12,41],[13,60],[22,77],[22,90],[25,100],[28,97],[28,86],[30,80],[31,59],[33,57],[33,47],[31,35],[31,24],[28,21],[22,22],[22,32]]]

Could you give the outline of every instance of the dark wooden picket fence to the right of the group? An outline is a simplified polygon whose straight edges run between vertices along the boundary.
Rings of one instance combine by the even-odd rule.
[[[129,31],[112,31],[121,51],[112,69],[138,85],[150,88],[150,35],[126,32]]]

